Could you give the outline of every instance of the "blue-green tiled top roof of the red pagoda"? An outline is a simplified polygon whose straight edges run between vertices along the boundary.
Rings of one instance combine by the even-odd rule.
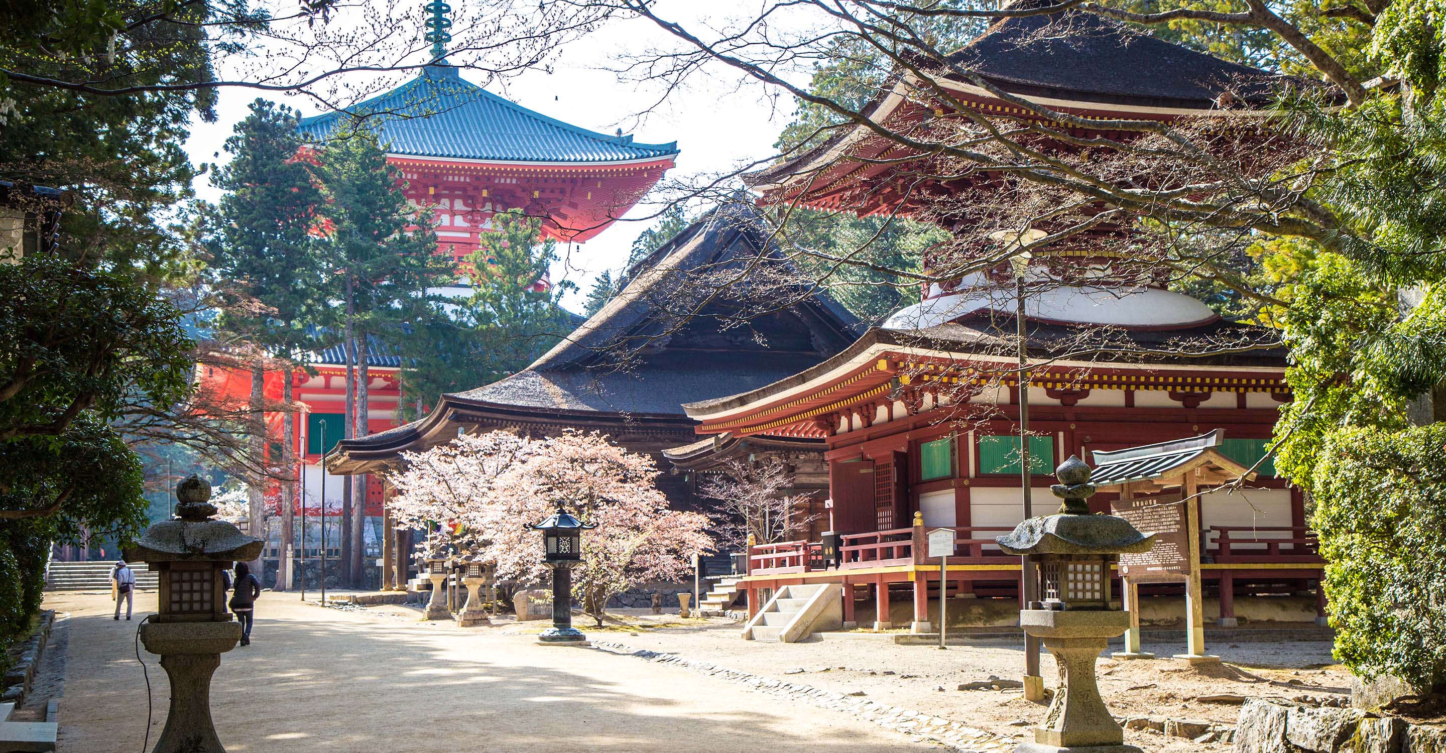
[[[343,111],[301,120],[301,132],[324,140],[353,116],[366,116],[393,155],[499,162],[633,162],[678,153],[677,142],[636,143],[534,113],[457,75],[428,66],[401,87]]]

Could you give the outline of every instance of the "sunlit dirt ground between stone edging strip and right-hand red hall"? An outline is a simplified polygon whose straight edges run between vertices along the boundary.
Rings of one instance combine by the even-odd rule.
[[[396,619],[415,619],[402,606],[373,607]],[[405,617],[403,617],[405,616]],[[675,614],[654,617],[648,610],[619,610],[619,620],[604,632],[580,629],[599,639],[636,649],[675,652],[729,669],[805,682],[836,692],[863,691],[868,698],[899,708],[918,710],[960,721],[1001,736],[1027,734],[1043,720],[1045,705],[1025,701],[1018,689],[960,691],[959,685],[991,678],[1018,679],[1024,672],[1022,646],[1012,640],[976,640],[967,646],[901,646],[892,636],[849,633],[849,637],[810,639],[803,643],[758,643],[739,637],[740,624],[723,619],[680,620]],[[490,632],[538,630],[541,623],[499,620]],[[1319,633],[1317,633],[1319,634]],[[1274,698],[1348,698],[1351,675],[1335,665],[1329,642],[1213,642],[1206,633],[1206,650],[1220,663],[1192,666],[1170,659],[1183,652],[1180,643],[1151,642],[1144,650],[1154,661],[1115,661],[1109,653],[1098,665],[1100,692],[1116,717],[1165,715],[1205,718],[1235,726],[1238,702],[1202,701],[1206,695],[1258,695]],[[1112,646],[1111,650],[1119,650]],[[1041,658],[1045,687],[1053,687],[1056,668]],[[940,689],[943,688],[943,689]],[[1028,723],[1028,724],[1025,724]],[[1150,731],[1126,731],[1126,743],[1161,752],[1223,752],[1229,744],[1197,744],[1165,739]]]

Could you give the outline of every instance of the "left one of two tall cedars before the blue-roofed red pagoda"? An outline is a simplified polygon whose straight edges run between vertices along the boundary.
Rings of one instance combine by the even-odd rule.
[[[314,345],[311,332],[324,304],[325,259],[311,237],[321,192],[312,185],[296,134],[296,113],[266,100],[256,100],[250,114],[236,124],[236,134],[226,140],[231,162],[217,171],[213,185],[226,191],[210,212],[213,256],[211,270],[226,308],[217,324],[256,344],[285,364],[282,400],[292,402],[292,363],[298,353]],[[252,369],[252,454],[266,452],[266,423],[262,421],[263,369]],[[283,413],[285,436],[294,436],[295,415]],[[295,457],[291,441],[281,442],[281,551],[292,542],[292,506],[295,503]],[[263,467],[254,457],[254,467]],[[252,520],[262,520],[262,494],[269,478],[249,478]],[[257,532],[256,535],[260,535]],[[289,584],[291,564],[281,558],[276,588]],[[257,572],[260,572],[257,569]]]

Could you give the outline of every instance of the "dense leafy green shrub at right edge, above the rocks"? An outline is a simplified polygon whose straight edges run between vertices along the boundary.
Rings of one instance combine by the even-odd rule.
[[[1446,425],[1343,429],[1309,471],[1336,656],[1446,685]]]

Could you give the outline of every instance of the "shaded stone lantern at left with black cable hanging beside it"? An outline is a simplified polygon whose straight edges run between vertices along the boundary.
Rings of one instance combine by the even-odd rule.
[[[171,679],[171,713],[152,753],[224,753],[211,723],[211,675],[236,647],[241,624],[226,608],[221,571],[256,559],[265,542],[226,520],[213,520],[211,484],[191,476],[176,486],[176,517],[152,525],[123,552],[159,574],[158,613],[140,626],[140,642],[161,655]]]

